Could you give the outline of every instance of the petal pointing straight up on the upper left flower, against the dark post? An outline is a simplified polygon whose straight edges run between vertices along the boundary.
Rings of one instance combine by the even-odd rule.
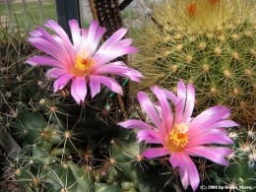
[[[79,51],[81,45],[81,30],[77,20],[69,21],[70,31],[72,34],[73,44],[76,52]]]

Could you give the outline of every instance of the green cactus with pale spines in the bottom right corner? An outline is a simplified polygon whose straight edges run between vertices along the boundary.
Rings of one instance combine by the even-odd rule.
[[[254,125],[255,126],[255,125]],[[255,127],[242,128],[229,132],[235,142],[234,152],[227,157],[229,166],[221,170],[217,167],[215,174],[210,171],[214,185],[225,186],[226,189],[253,191],[255,189]]]

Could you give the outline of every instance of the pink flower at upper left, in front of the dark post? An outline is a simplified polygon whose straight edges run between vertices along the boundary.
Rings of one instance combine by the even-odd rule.
[[[111,62],[119,56],[137,52],[135,47],[130,46],[132,39],[121,39],[127,32],[126,29],[114,32],[97,49],[105,29],[99,27],[96,21],[92,22],[89,30],[80,29],[76,20],[69,21],[73,43],[54,21],[47,21],[44,26],[55,33],[36,27],[36,31],[30,32],[32,37],[29,41],[47,53],[47,56],[33,56],[27,63],[52,67],[46,75],[56,78],[54,92],[63,89],[71,81],[71,95],[80,103],[88,94],[88,86],[92,97],[100,92],[100,84],[122,95],[121,86],[106,74],[119,75],[136,82],[140,82],[143,77],[140,72],[121,61]]]

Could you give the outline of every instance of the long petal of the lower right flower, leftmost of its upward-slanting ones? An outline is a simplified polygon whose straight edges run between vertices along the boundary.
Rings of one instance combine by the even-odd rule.
[[[153,123],[161,130],[161,132],[163,132],[164,127],[160,120],[160,115],[158,114],[157,110],[155,109],[149,96],[143,92],[139,92],[137,94],[137,97],[138,97],[138,100],[139,100],[140,105],[143,108],[143,110],[148,114],[148,116],[151,118]]]

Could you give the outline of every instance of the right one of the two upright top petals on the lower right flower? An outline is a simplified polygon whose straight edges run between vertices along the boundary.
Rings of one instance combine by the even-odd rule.
[[[187,96],[186,96],[186,106],[184,108],[184,113],[182,116],[182,122],[188,122],[195,104],[195,89],[192,85],[187,85]]]

